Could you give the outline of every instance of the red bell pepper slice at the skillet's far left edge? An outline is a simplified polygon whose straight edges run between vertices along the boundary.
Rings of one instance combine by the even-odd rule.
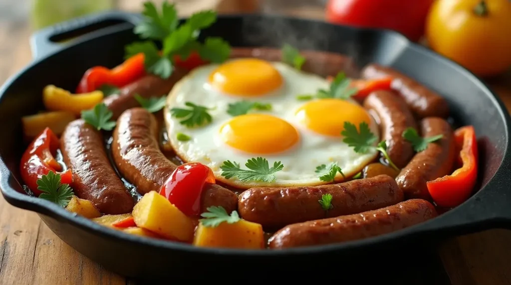
[[[55,160],[53,154],[59,148],[59,145],[59,139],[47,127],[35,138],[21,157],[21,178],[36,196],[42,193],[37,189],[37,179],[41,178],[42,175],[47,175],[50,171],[60,175],[60,183],[62,184],[73,182],[71,169],[58,172],[62,170],[62,166]]]

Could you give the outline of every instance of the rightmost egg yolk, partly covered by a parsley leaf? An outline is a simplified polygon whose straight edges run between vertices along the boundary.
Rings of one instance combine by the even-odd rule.
[[[344,122],[358,128],[361,122],[370,123],[367,112],[360,105],[341,99],[319,99],[310,101],[296,111],[298,120],[312,131],[327,136],[339,137]]]

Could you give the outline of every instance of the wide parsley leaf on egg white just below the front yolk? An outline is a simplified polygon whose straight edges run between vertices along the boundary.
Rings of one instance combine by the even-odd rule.
[[[270,168],[268,161],[261,157],[249,159],[245,166],[250,170],[240,169],[240,165],[236,162],[224,161],[220,166],[221,175],[227,179],[237,176],[240,181],[273,182],[275,180],[273,174],[284,168],[280,161],[274,162],[273,167]]]

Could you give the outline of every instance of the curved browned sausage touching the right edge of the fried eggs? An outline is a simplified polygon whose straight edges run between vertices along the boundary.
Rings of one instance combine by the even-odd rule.
[[[382,139],[387,141],[387,153],[390,160],[403,168],[411,160],[412,145],[403,138],[407,127],[417,129],[415,118],[406,106],[406,102],[389,91],[375,91],[364,100],[364,107],[373,110],[380,119]]]

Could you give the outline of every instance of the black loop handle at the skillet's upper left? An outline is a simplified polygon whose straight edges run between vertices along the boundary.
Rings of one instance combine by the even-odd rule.
[[[138,13],[108,11],[55,24],[32,35],[32,57],[37,60],[57,53],[70,41],[94,38],[119,25],[134,27],[141,19],[142,16]]]

